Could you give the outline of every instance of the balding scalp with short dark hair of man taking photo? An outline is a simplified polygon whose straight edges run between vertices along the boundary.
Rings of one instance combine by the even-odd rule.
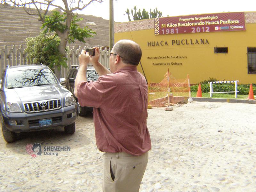
[[[131,65],[139,65],[141,59],[140,46],[131,40],[120,40],[114,45],[112,52],[118,54],[124,63]]]

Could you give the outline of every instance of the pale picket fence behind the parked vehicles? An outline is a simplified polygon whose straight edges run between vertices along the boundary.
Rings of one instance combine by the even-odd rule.
[[[69,46],[70,54],[67,55],[67,64],[68,68],[61,67],[61,77],[66,77],[70,65],[79,65],[78,56],[83,49],[91,47],[82,47],[82,46]],[[24,45],[5,45],[3,49],[0,49],[0,74],[2,75],[4,68],[9,66],[25,65],[32,64],[31,61],[27,58],[27,54],[24,52]],[[105,67],[109,68],[109,53],[110,51],[107,48],[100,48],[100,63]]]

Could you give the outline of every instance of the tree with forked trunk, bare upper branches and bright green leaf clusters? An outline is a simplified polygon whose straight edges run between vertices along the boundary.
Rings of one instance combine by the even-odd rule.
[[[74,42],[79,40],[82,42],[84,38],[91,37],[95,34],[91,29],[85,27],[80,28],[76,23],[80,19],[77,19],[76,11],[82,11],[89,4],[93,2],[101,3],[102,0],[90,0],[87,3],[84,0],[1,0],[1,3],[9,6],[23,7],[24,11],[29,15],[37,15],[38,20],[42,22],[43,28],[47,28],[44,32],[48,31],[55,33],[54,36],[60,37],[59,54],[65,56],[66,45],[68,42]],[[49,14],[51,8],[58,8],[61,13],[52,12]],[[58,56],[59,57],[59,56]],[[57,61],[57,58],[55,61]],[[55,62],[54,72],[58,78],[60,78],[60,65],[63,62]]]

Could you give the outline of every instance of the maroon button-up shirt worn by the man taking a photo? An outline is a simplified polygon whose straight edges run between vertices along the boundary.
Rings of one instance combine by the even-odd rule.
[[[140,156],[151,149],[147,128],[148,85],[136,66],[80,82],[81,106],[94,107],[96,144],[102,152]]]

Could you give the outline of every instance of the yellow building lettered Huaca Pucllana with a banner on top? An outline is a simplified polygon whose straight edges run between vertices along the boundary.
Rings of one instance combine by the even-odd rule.
[[[256,12],[119,23],[115,25],[115,42],[121,39],[140,45],[141,65],[150,82],[160,82],[169,68],[176,79],[189,74],[191,84],[210,77],[256,83]],[[139,65],[143,74],[142,68]]]

